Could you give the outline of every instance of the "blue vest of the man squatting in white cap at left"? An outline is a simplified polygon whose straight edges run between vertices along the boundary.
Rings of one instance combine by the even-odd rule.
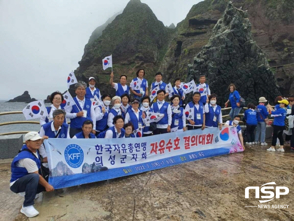
[[[28,149],[26,144],[22,147],[22,150],[24,150],[24,149]],[[41,161],[40,161],[39,151],[37,151],[37,154],[38,154],[39,159],[37,159],[34,154],[32,154],[32,153],[30,153],[28,151],[22,151],[18,155],[16,155],[16,157],[13,159],[13,161],[11,163],[11,179],[10,179],[10,183],[13,182],[13,181],[16,181],[17,179],[19,179],[19,178],[21,178],[21,177],[28,174],[25,167],[16,166],[16,164],[17,164],[17,162],[19,160],[29,158],[29,159],[36,162],[36,164],[38,166],[38,169],[41,168]]]

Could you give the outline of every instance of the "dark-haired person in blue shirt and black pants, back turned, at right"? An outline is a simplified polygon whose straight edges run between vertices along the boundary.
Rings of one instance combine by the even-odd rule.
[[[247,145],[254,144],[254,130],[257,126],[257,115],[256,107],[254,104],[249,103],[247,105],[247,110],[244,112],[244,119],[246,121],[246,130],[247,130]]]

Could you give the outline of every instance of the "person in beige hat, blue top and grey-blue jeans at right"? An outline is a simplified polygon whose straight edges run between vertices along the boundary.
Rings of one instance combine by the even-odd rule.
[[[267,100],[265,97],[260,97],[259,98],[259,105],[256,107],[256,117],[257,117],[257,128],[255,132],[255,144],[259,143],[259,135],[260,136],[260,145],[268,145],[265,142],[266,139],[266,128],[267,124],[265,122],[265,119],[268,118],[269,112],[265,106]]]

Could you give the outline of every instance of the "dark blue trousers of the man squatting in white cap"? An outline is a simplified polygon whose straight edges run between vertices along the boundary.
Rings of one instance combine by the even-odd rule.
[[[14,193],[25,192],[24,206],[32,206],[36,194],[45,191],[45,187],[39,184],[39,174],[30,173],[15,181],[10,190]]]

